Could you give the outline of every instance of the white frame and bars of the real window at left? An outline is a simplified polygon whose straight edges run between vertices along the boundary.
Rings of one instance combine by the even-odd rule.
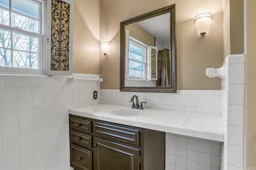
[[[0,66],[0,74],[25,74],[25,75],[46,75],[45,72],[45,59],[46,59],[46,14],[47,14],[47,0],[31,0],[32,2],[40,4],[40,32],[34,33],[30,31],[26,31],[23,29],[19,29],[16,27],[12,27],[10,25],[4,25],[0,24],[0,27],[2,29],[7,29],[9,31],[15,31],[18,33],[26,34],[26,35],[32,35],[38,37],[38,69],[30,69],[30,68],[14,68],[14,67],[3,67]],[[10,9],[1,7],[4,10],[8,10],[9,12],[12,12],[11,10],[11,0],[10,2]],[[20,14],[24,16],[24,14],[14,12],[17,14]],[[12,38],[12,37],[10,37]],[[13,50],[13,48],[10,48]]]

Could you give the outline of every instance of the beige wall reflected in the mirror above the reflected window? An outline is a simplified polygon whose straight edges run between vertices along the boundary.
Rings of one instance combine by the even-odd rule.
[[[126,25],[125,29],[129,30],[129,35],[140,42],[150,46],[155,45],[155,37],[148,33],[145,29],[137,25],[136,23]]]

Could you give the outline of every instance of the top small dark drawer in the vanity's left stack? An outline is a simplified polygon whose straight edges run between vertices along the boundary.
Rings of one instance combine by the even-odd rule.
[[[91,133],[92,121],[70,117],[70,128]]]

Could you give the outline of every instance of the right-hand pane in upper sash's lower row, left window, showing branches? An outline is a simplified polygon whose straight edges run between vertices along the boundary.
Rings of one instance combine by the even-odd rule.
[[[39,21],[12,13],[12,27],[39,33]]]

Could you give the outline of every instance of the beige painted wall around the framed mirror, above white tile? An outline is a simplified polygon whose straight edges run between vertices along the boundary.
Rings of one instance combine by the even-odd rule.
[[[223,0],[100,0],[100,40],[111,41],[107,56],[100,55],[101,89],[119,89],[120,22],[176,3],[177,89],[220,89],[219,78],[208,78],[206,68],[223,63]],[[196,14],[210,10],[212,25],[198,35]]]

